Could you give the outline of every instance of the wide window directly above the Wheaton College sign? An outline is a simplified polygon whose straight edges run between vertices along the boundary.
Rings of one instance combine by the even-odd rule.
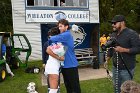
[[[27,6],[88,8],[89,0],[26,0]]]

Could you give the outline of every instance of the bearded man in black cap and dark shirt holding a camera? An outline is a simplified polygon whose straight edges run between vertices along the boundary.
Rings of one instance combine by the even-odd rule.
[[[116,38],[117,45],[113,48],[112,53],[108,53],[107,59],[112,57],[115,93],[120,93],[121,84],[133,79],[136,54],[140,53],[140,39],[136,31],[126,27],[123,15],[116,15],[111,23],[113,27],[111,37]],[[107,63],[104,64],[104,66],[106,65]]]

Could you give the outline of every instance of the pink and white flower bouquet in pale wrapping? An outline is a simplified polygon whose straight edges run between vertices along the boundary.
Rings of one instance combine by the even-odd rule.
[[[58,56],[64,56],[65,55],[65,49],[64,49],[64,45],[62,45],[62,43],[57,42],[57,43],[53,43],[50,46],[51,50],[53,51],[53,53],[57,54]],[[63,61],[60,61],[61,66],[64,66]]]

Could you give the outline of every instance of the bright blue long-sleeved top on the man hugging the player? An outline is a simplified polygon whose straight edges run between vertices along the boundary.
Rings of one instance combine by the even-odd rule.
[[[50,40],[52,42],[61,42],[64,46],[67,47],[63,68],[71,68],[78,66],[78,61],[74,52],[74,40],[69,30],[59,35],[51,36]]]

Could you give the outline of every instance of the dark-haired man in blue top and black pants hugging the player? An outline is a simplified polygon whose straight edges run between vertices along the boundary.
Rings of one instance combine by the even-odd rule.
[[[63,61],[64,66],[62,68],[62,74],[64,78],[65,87],[67,93],[81,93],[79,84],[79,74],[78,74],[78,61],[74,52],[74,40],[69,29],[69,22],[65,19],[61,19],[58,22],[58,27],[60,34],[50,37],[52,42],[61,42],[67,47],[66,54],[63,57],[59,57],[54,54],[51,49],[47,48],[47,53],[52,57]]]

